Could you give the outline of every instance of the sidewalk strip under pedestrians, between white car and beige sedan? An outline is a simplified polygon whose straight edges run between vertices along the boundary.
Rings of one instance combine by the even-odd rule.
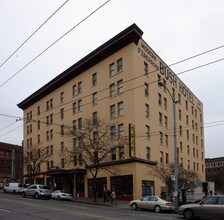
[[[86,197],[72,197],[73,202],[78,203],[86,203],[91,205],[99,205],[99,206],[111,206],[115,208],[122,208],[122,209],[130,209],[129,208],[129,201],[122,201],[117,200],[117,206],[114,204],[111,204],[110,202],[104,202],[103,198],[97,198],[96,202],[94,202],[94,198],[86,198]]]

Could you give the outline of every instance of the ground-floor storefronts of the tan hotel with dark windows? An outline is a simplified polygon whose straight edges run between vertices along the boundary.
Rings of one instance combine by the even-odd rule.
[[[161,194],[161,181],[149,173],[149,167],[155,164],[130,159],[112,165],[116,168],[116,173],[100,169],[96,179],[85,169],[52,169],[36,175],[34,182],[48,185],[52,190],[61,189],[75,197],[94,197],[96,193],[96,197],[103,198],[105,191],[114,190],[118,200],[129,201],[146,195]]]

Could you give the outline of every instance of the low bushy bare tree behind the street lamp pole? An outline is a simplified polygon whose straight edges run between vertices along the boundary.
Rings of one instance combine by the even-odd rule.
[[[174,175],[174,164],[168,165],[157,164],[157,166],[151,167],[150,174],[158,177],[166,184],[167,193],[174,191],[174,181],[171,176]],[[200,180],[198,174],[193,170],[183,168],[178,165],[178,190],[189,189],[199,185]]]

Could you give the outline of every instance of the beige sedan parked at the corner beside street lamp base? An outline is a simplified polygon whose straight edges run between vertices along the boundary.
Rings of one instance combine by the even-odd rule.
[[[155,212],[174,211],[175,205],[171,201],[166,201],[158,196],[146,196],[139,200],[132,200],[129,206],[133,210],[151,209]]]

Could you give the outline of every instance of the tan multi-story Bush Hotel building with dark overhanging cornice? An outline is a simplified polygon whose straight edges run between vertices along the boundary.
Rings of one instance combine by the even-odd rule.
[[[160,195],[164,184],[149,174],[149,167],[174,161],[173,98],[178,99],[178,163],[204,180],[203,104],[142,35],[138,26],[131,25],[18,104],[26,120],[24,147],[41,143],[50,149],[36,182],[57,182],[70,190],[75,183],[79,195],[91,195],[90,173],[81,164],[64,167],[57,152],[62,145],[72,145],[63,136],[65,126],[97,115],[118,121],[116,129],[125,136],[129,127],[135,131],[134,144],[124,146],[122,155],[117,149],[111,156],[119,175],[99,173],[99,195],[105,186],[115,186],[120,198]]]

